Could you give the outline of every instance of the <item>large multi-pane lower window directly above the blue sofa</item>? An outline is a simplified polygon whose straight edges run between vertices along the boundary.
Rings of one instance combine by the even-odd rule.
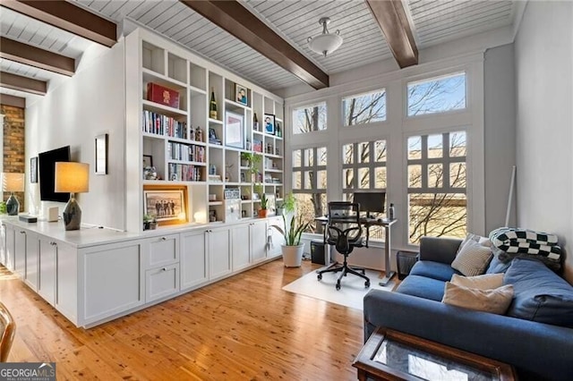
[[[463,238],[467,231],[466,132],[407,140],[408,238]]]

